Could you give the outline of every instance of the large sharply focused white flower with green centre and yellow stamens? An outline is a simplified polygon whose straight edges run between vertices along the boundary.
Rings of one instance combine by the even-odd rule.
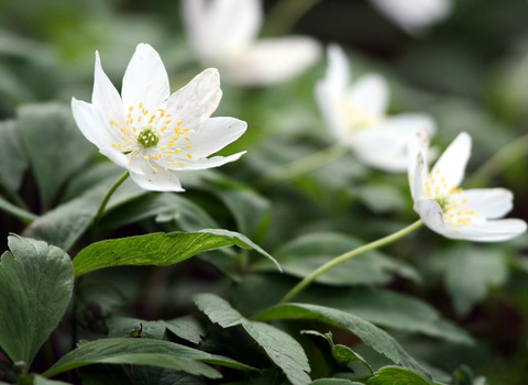
[[[207,156],[235,141],[246,123],[209,118],[222,97],[218,70],[209,68],[169,95],[160,55],[140,44],[123,77],[121,97],[101,68],[96,53],[91,105],[73,98],[75,121],[82,134],[142,188],[183,191],[172,170],[218,167],[238,160]]]

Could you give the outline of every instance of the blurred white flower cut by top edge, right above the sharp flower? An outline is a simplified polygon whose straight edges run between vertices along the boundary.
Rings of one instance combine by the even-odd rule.
[[[204,65],[246,86],[277,84],[299,75],[320,56],[308,36],[256,41],[262,26],[261,0],[184,0],[187,33]]]

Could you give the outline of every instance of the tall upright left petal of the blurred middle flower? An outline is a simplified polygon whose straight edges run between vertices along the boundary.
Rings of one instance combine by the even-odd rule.
[[[350,65],[343,50],[337,44],[328,47],[328,66],[324,78],[316,84],[316,101],[328,129],[343,141],[349,128],[342,111],[349,84]]]

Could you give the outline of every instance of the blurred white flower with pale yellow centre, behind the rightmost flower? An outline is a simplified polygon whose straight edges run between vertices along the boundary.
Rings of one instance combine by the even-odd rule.
[[[386,116],[388,85],[365,74],[350,85],[349,61],[338,45],[328,47],[324,78],[316,85],[316,100],[328,128],[370,166],[387,172],[407,169],[408,138],[419,127],[430,134],[433,120],[425,113]]]

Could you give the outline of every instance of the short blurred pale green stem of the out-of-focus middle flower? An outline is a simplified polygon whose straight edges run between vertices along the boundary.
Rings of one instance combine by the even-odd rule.
[[[288,179],[298,177],[314,169],[320,168],[332,161],[346,154],[349,150],[340,143],[331,145],[328,148],[321,150],[315,154],[301,157],[300,160],[288,163],[284,166],[275,168],[270,174],[256,179],[256,186],[260,188],[267,188]]]

